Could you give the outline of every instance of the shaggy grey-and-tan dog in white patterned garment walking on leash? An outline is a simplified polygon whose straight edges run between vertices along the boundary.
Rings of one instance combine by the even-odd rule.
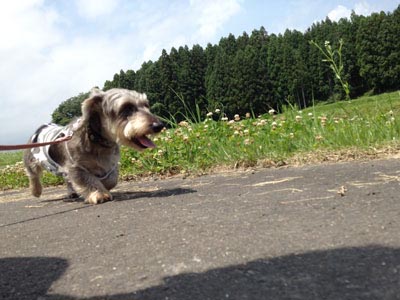
[[[146,94],[114,88],[91,90],[82,103],[82,117],[65,127],[42,125],[30,143],[47,142],[72,134],[64,143],[25,150],[24,165],[33,196],[40,197],[43,169],[64,177],[68,198],[83,196],[86,203],[112,200],[118,182],[120,145],[136,150],[154,148],[149,134],[164,124],[150,112]]]

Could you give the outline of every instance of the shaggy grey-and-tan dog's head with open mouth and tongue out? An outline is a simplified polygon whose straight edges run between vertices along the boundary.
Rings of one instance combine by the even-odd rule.
[[[154,148],[148,135],[164,128],[150,112],[146,94],[126,89],[103,92],[97,88],[82,103],[80,126],[87,128],[91,139],[104,139],[137,150]]]

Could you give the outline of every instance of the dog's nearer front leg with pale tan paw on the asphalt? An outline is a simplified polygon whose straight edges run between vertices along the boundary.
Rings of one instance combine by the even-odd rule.
[[[85,197],[85,203],[100,204],[112,200],[111,193],[101,181],[83,168],[71,168],[69,179],[73,187]]]

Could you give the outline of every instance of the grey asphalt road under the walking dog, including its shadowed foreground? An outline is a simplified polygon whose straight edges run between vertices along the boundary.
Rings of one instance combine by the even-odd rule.
[[[400,160],[0,194],[1,299],[400,299]]]

